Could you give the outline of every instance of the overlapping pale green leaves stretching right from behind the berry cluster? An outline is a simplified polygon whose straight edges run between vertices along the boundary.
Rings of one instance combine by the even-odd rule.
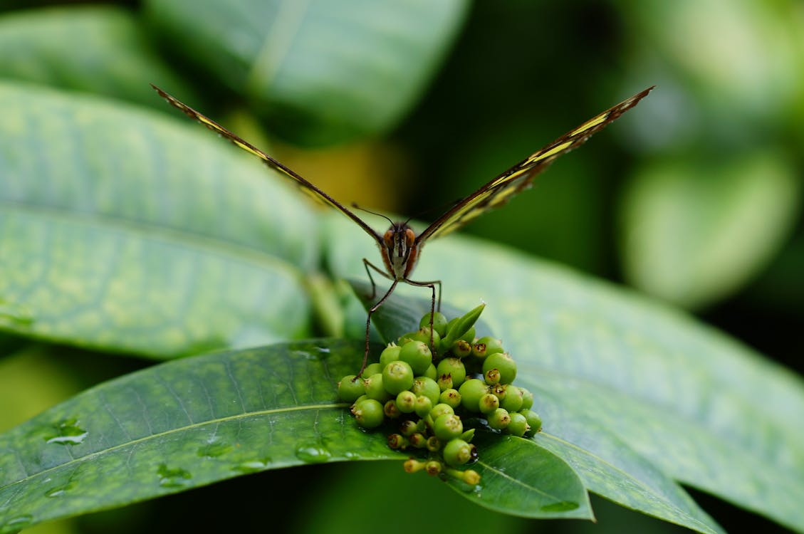
[[[359,258],[373,257],[352,226],[342,216],[328,226],[339,276],[359,276]],[[590,491],[717,531],[675,480],[804,529],[800,377],[667,306],[509,249],[450,236],[425,250],[414,279],[443,277],[453,306],[487,303],[482,318],[535,392],[537,442]]]

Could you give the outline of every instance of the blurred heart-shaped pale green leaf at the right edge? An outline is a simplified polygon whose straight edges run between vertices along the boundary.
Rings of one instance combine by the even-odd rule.
[[[634,177],[623,200],[626,276],[687,308],[739,290],[781,249],[801,207],[800,180],[779,154],[725,165],[672,161]]]

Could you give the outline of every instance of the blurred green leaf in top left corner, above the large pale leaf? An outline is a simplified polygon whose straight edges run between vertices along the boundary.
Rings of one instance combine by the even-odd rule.
[[[167,111],[148,82],[192,101],[129,10],[70,6],[0,17],[0,76],[100,93]]]

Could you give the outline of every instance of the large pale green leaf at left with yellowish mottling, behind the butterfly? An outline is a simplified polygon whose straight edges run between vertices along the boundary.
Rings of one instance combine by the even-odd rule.
[[[305,335],[314,217],[183,116],[0,84],[0,328],[174,357]]]

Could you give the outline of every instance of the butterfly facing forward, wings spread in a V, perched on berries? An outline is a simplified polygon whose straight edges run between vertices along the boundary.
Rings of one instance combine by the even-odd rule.
[[[623,113],[626,113],[626,111],[637,105],[638,102],[641,101],[642,98],[646,97],[651,89],[654,88],[654,86],[651,86],[642,92],[638,92],[633,97],[627,98],[626,100],[621,101],[619,104],[606,109],[603,113],[592,117],[589,119],[589,121],[584,122],[577,128],[571,129],[566,134],[556,139],[556,141],[550,143],[548,146],[544,146],[544,148],[536,150],[533,154],[527,158],[524,158],[521,162],[503,172],[503,174],[498,175],[489,183],[486,183],[477,191],[474,191],[474,193],[471,195],[458,201],[457,203],[454,203],[453,206],[444,213],[444,215],[434,220],[433,223],[431,223],[422,232],[416,234],[413,228],[408,225],[407,221],[402,223],[391,221],[391,226],[388,228],[388,230],[386,230],[383,234],[380,234],[371,228],[371,226],[366,224],[365,221],[360,219],[359,216],[355,215],[355,212],[352,212],[342,203],[339,203],[330,195],[327,195],[326,192],[316,187],[313,183],[310,183],[306,179],[302,178],[301,175],[298,175],[294,170],[283,165],[281,162],[278,162],[268,154],[265,154],[265,152],[256,148],[256,146],[253,146],[251,143],[244,141],[235,134],[232,134],[232,132],[230,132],[228,129],[225,129],[217,122],[212,121],[210,118],[195,111],[195,109],[192,109],[183,102],[178,101],[178,99],[171,97],[168,93],[162,91],[162,89],[158,88],[154,84],[151,84],[151,87],[153,87],[156,92],[159,93],[159,96],[168,101],[170,105],[180,109],[187,114],[188,117],[195,119],[195,121],[199,121],[201,124],[207,126],[207,128],[217,132],[224,138],[227,138],[230,142],[236,146],[239,146],[241,149],[256,155],[256,157],[260,158],[265,165],[292,180],[293,183],[296,183],[296,185],[301,188],[301,191],[304,191],[313,199],[325,204],[329,204],[331,207],[334,207],[338,211],[342,212],[345,216],[355,221],[355,224],[357,224],[360,228],[363,228],[363,231],[365,231],[373,240],[375,240],[375,243],[379,248],[380,256],[383,259],[384,269],[380,269],[376,265],[372,264],[371,261],[363,258],[363,266],[366,269],[369,280],[371,280],[371,299],[373,300],[376,296],[376,285],[374,283],[374,279],[371,277],[371,270],[369,269],[373,269],[376,273],[388,278],[388,280],[391,281],[391,287],[389,287],[388,291],[386,291],[385,294],[379,298],[379,300],[375,302],[374,305],[368,310],[368,318],[366,319],[366,350],[363,354],[363,367],[360,368],[360,372],[358,372],[357,376],[360,376],[363,373],[363,369],[366,368],[366,363],[368,360],[371,314],[374,314],[374,312],[379,309],[379,306],[383,305],[383,303],[396,289],[396,285],[398,285],[400,282],[419,287],[428,287],[430,289],[432,294],[430,304],[430,327],[432,331],[433,314],[437,308],[441,307],[441,281],[415,281],[410,277],[413,269],[416,267],[416,262],[419,261],[421,250],[425,246],[427,240],[435,239],[436,237],[445,236],[450,232],[454,232],[458,228],[461,228],[465,224],[469,223],[475,217],[480,216],[483,213],[490,212],[495,207],[500,207],[507,203],[512,197],[530,187],[535,176],[539,175],[540,172],[545,170],[554,159],[558,158],[561,154],[566,154],[577,146],[582,145],[587,139],[589,139],[590,136],[605,128],[606,125],[609,125],[609,123],[617,120],[617,118]],[[436,285],[438,286],[438,306],[436,305]]]

